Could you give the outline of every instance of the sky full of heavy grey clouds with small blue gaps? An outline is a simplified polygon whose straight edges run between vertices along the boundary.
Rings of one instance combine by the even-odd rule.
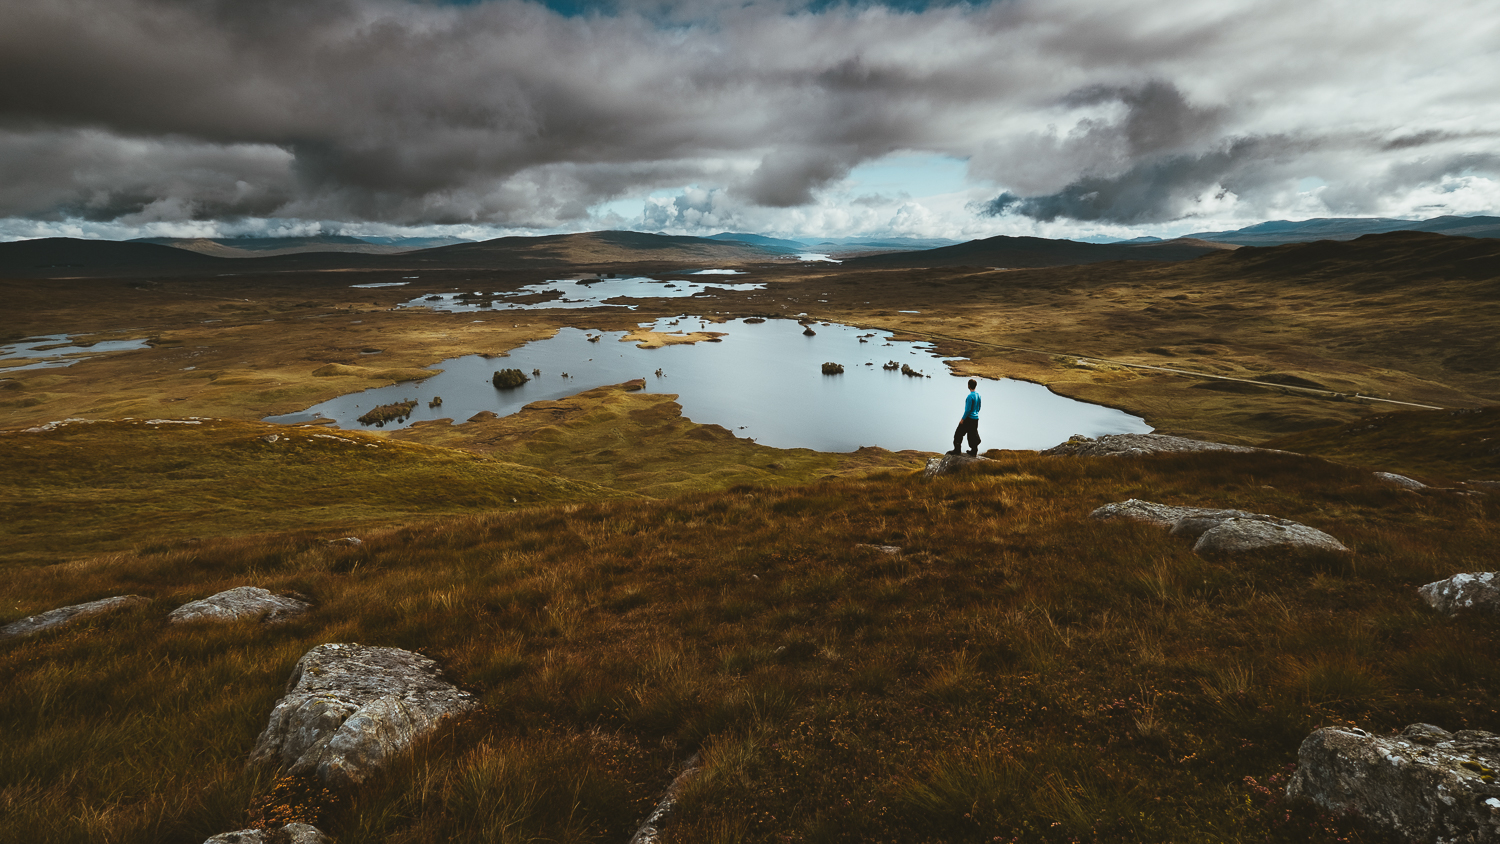
[[[1500,213],[1496,0],[0,0],[0,240]]]

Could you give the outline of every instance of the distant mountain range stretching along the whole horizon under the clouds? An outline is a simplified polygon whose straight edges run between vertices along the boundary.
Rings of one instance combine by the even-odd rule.
[[[1420,228],[1416,228],[1420,226]],[[1062,267],[1101,261],[1188,261],[1240,246],[1272,246],[1311,240],[1346,241],[1362,229],[1382,228],[1500,238],[1500,217],[1437,217],[1410,220],[1329,219],[1269,222],[1234,232],[1204,232],[1216,240],[1136,240],[1080,243],[1041,237],[990,237],[968,243],[921,238],[840,238],[807,243],[758,234],[722,232],[712,237],[680,237],[634,231],[596,231],[544,237],[501,237],[459,241],[418,249],[424,241],[452,238],[380,238],[370,243],[345,235],[309,238],[222,238],[102,241],[40,238],[0,243],[0,276],[9,277],[108,277],[252,274],[318,270],[538,270],[606,271],[616,265],[642,265],[642,271],[670,268],[758,264],[788,255],[836,250],[849,268],[916,267]],[[1452,238],[1455,243],[1460,238]],[[1244,243],[1242,243],[1244,241]],[[944,246],[921,249],[921,244]],[[855,256],[849,256],[854,253]],[[664,270],[668,268],[668,270]]]

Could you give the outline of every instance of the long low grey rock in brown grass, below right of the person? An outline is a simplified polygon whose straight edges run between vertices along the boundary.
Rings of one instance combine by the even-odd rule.
[[[1170,528],[1173,537],[1194,540],[1192,550],[1203,556],[1251,552],[1348,553],[1342,543],[1323,531],[1245,510],[1176,507],[1132,498],[1106,504],[1089,517],[1130,519]]]

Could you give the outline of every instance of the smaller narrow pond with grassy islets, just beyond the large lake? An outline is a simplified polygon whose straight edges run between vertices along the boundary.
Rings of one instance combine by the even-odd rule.
[[[742,270],[696,270],[684,273],[688,276],[738,276]],[[684,298],[704,292],[710,288],[722,291],[759,291],[765,285],[756,282],[687,282],[658,280],[644,276],[628,279],[561,279],[526,285],[513,292],[483,292],[464,291],[447,294],[430,294],[402,303],[402,307],[428,307],[444,313],[464,313],[480,310],[542,310],[542,309],[576,309],[576,307],[628,307],[633,304],[615,304],[612,298]],[[537,298],[542,301],[514,301],[518,298]]]

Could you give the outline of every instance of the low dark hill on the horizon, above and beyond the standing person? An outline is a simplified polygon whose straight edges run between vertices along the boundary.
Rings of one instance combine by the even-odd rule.
[[[1233,249],[1192,240],[1155,243],[1078,243],[1042,237],[987,237],[957,246],[920,252],[866,255],[843,262],[849,270],[896,270],[921,267],[1062,267],[1102,261],[1188,261]]]

